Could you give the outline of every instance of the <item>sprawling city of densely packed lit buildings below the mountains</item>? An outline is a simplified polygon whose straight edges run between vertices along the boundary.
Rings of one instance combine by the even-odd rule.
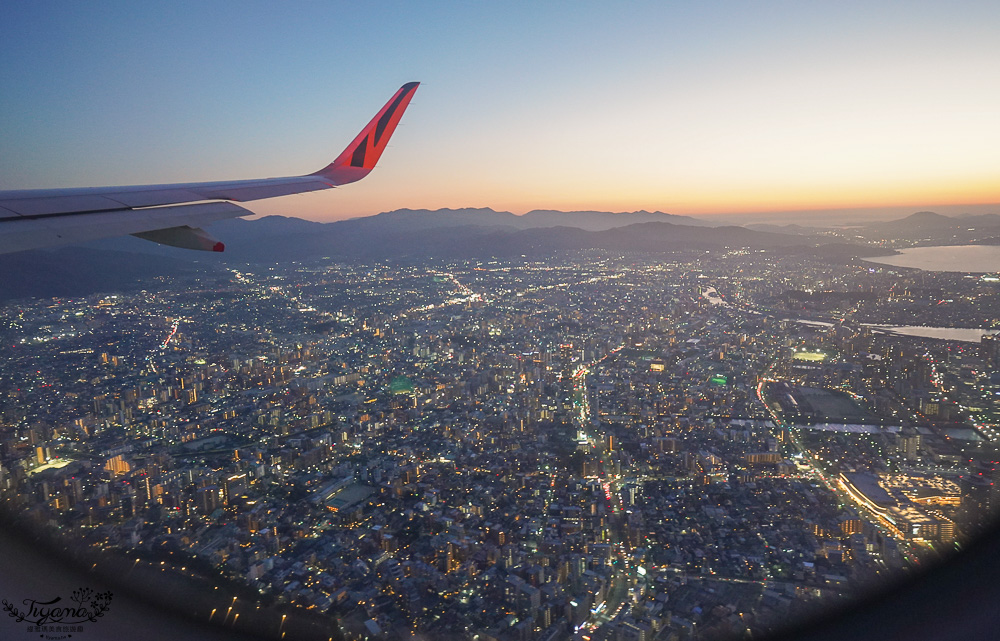
[[[885,328],[989,330],[996,296],[595,250],[22,300],[0,309],[0,488],[76,545],[246,588],[199,616],[287,606],[278,637],[316,613],[347,639],[767,631],[1000,505],[997,339]]]

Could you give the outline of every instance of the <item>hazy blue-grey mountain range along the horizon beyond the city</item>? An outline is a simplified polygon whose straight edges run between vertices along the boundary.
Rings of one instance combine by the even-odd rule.
[[[893,233],[904,237],[904,233],[926,234],[930,228],[949,231],[973,223],[996,226],[1000,232],[1000,216],[950,218],[931,212],[875,223],[863,231],[866,236]],[[813,230],[805,227],[711,226],[688,216],[647,211],[535,210],[518,216],[488,208],[399,209],[332,223],[282,216],[235,218],[217,222],[208,231],[226,243],[225,253],[191,252],[124,237],[56,251],[0,256],[0,273],[5,275],[0,280],[0,299],[129,289],[156,275],[181,274],[205,265],[327,257],[417,262],[544,257],[585,249],[659,252],[743,247],[780,249],[783,253],[810,251],[831,260],[873,253],[862,246],[829,245],[828,238],[814,236]]]

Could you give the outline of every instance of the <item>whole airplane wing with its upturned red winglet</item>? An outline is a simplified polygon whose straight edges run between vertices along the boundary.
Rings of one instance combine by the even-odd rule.
[[[234,202],[330,189],[367,176],[419,84],[400,87],[332,163],[305,176],[0,191],[0,254],[125,234],[187,249],[223,251],[224,245],[199,225],[253,214]]]

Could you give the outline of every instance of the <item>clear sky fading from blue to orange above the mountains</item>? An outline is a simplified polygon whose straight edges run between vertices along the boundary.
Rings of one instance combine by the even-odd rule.
[[[250,208],[1000,213],[998,32],[995,1],[9,0],[0,189],[309,173],[416,80],[365,180]]]

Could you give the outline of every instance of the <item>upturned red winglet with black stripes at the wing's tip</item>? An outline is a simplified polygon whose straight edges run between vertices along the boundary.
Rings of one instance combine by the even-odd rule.
[[[408,82],[400,87],[336,160],[310,175],[329,180],[333,185],[346,185],[367,176],[382,156],[419,85]]]

